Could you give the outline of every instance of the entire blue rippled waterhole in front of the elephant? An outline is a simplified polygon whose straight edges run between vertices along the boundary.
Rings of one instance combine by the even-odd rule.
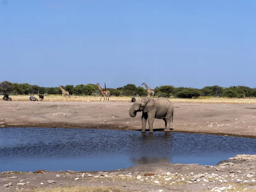
[[[99,129],[0,129],[0,172],[99,171],[160,162],[215,165],[236,154],[256,154],[255,140]]]

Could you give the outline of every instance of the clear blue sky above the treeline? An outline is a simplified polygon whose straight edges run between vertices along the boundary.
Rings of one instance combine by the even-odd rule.
[[[256,87],[256,0],[0,1],[0,81]]]

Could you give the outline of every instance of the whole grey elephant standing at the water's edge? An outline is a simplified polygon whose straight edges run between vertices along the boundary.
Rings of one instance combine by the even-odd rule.
[[[171,131],[170,123],[173,120],[173,105],[169,99],[151,99],[148,97],[138,98],[131,106],[129,110],[129,115],[131,117],[135,117],[138,111],[142,111],[142,132],[145,132],[146,130],[147,119],[149,132],[153,132],[154,118],[164,120],[165,129],[163,131]]]

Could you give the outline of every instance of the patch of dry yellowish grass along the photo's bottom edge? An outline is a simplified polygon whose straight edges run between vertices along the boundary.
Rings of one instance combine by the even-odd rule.
[[[117,187],[57,187],[51,189],[33,189],[31,192],[125,192]]]

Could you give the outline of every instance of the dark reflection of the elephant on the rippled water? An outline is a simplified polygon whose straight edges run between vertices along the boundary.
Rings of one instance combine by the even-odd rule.
[[[137,141],[136,153],[131,155],[134,165],[170,163],[172,159],[172,133],[156,135],[143,132]]]

